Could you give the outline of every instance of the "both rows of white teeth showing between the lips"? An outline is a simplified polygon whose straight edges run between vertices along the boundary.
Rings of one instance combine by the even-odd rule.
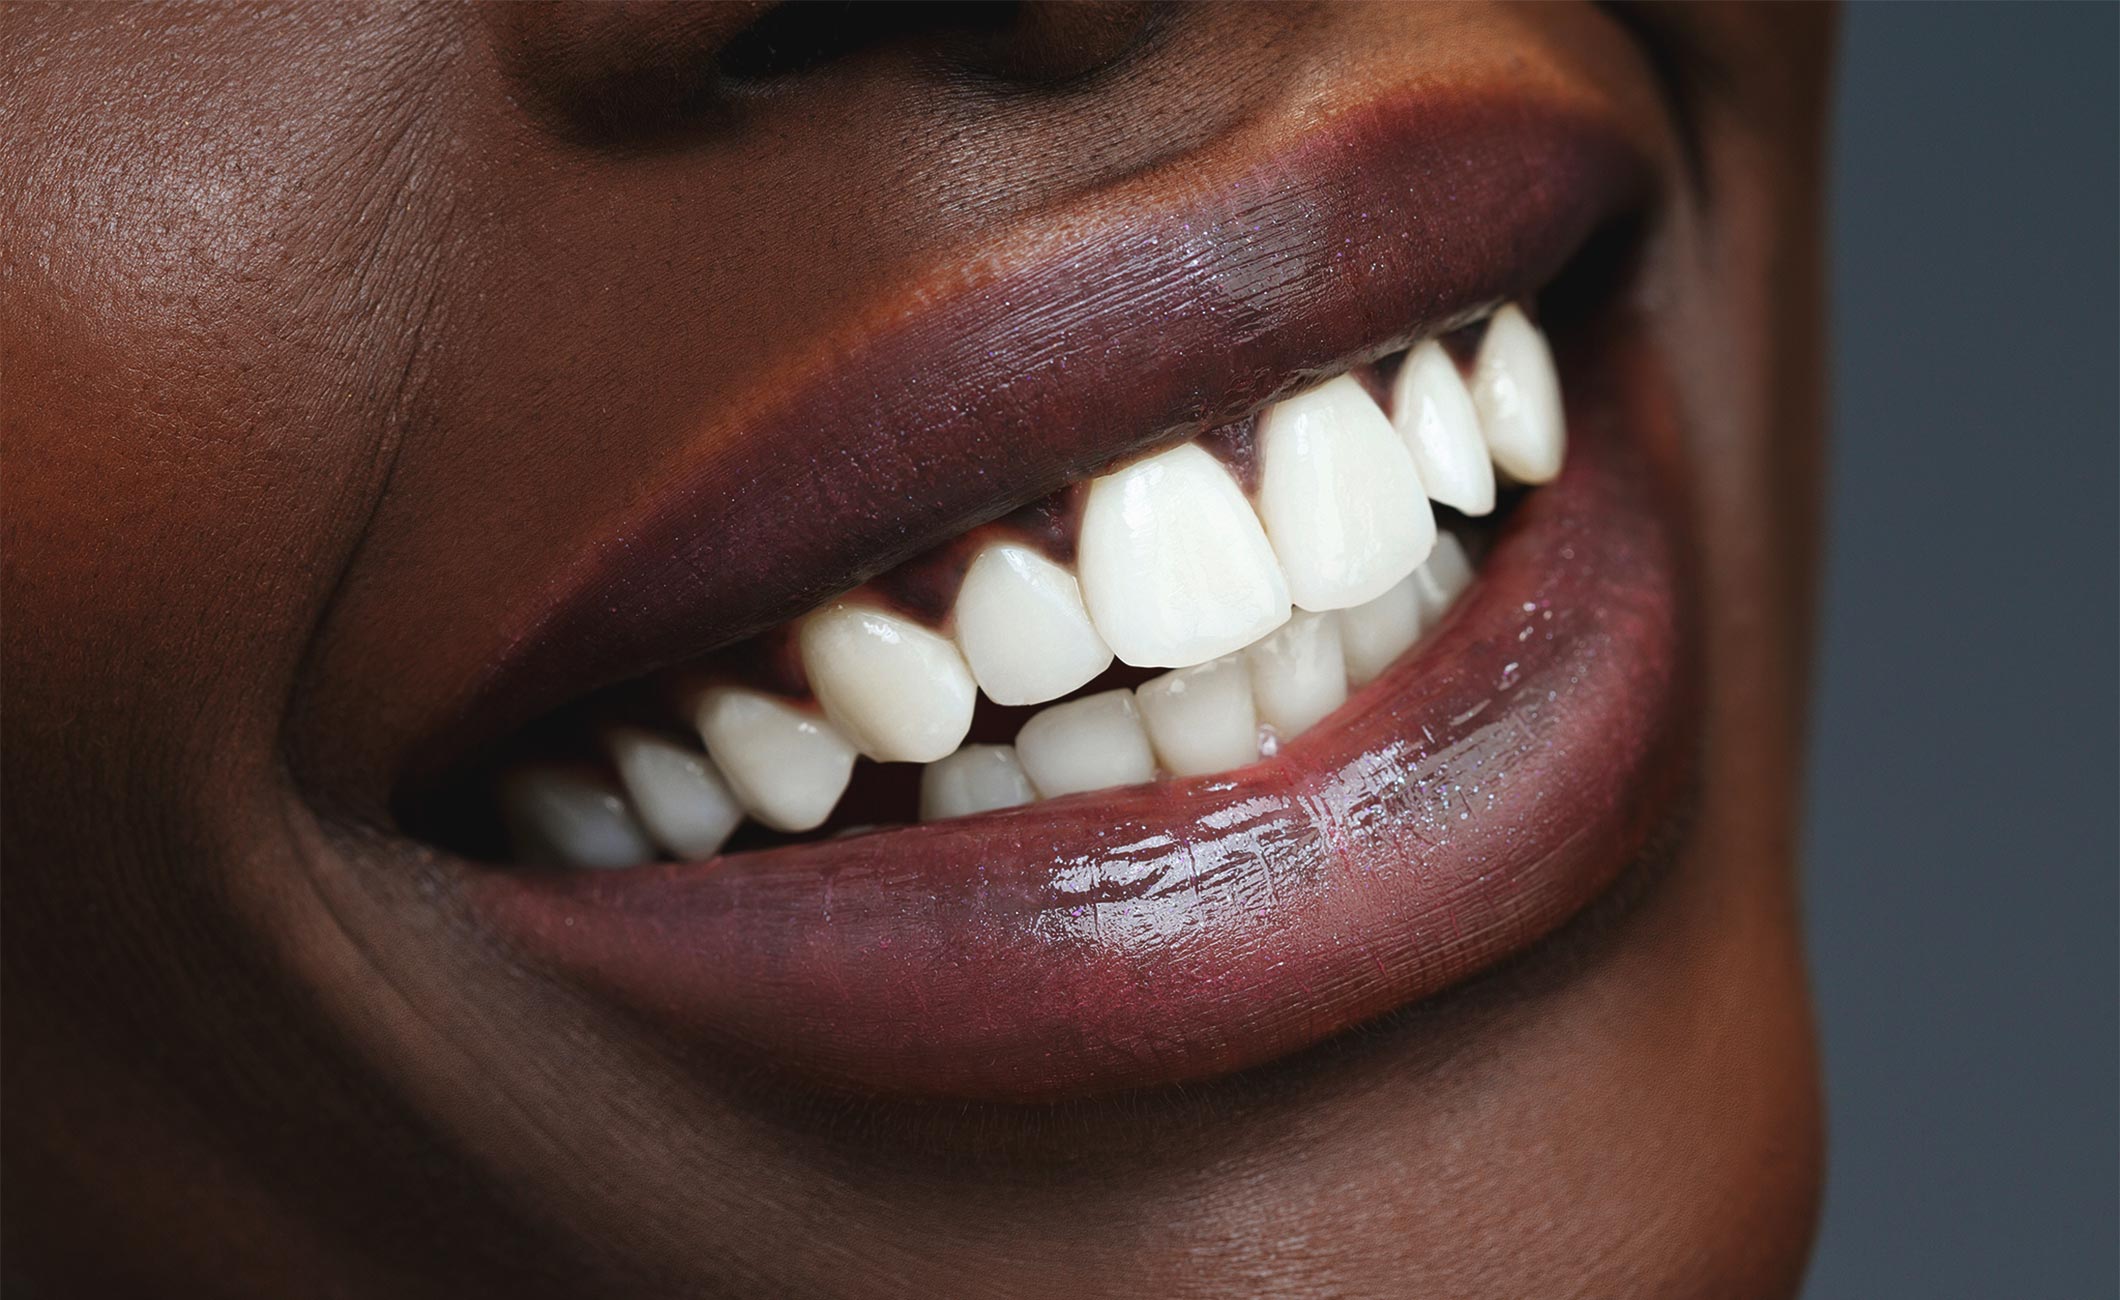
[[[1092,479],[1075,564],[996,537],[943,628],[859,590],[827,602],[795,626],[814,700],[697,689],[685,721],[704,749],[613,725],[604,763],[509,770],[496,793],[517,850],[625,867],[708,859],[744,819],[810,831],[856,757],[922,763],[922,821],[1249,766],[1380,677],[1469,585],[1431,500],[1486,515],[1497,477],[1545,484],[1567,452],[1552,354],[1516,305],[1488,322],[1469,380],[1425,341],[1389,414],[1340,375],[1266,407],[1255,445],[1251,494],[1200,443]],[[1166,672],[1064,698],[1113,662]],[[967,744],[979,696],[1045,708],[1013,744]]]

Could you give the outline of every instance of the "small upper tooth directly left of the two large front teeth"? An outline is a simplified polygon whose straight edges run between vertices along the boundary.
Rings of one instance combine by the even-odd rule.
[[[956,594],[956,643],[994,704],[1043,704],[1111,666],[1081,583],[1037,549],[988,545]]]

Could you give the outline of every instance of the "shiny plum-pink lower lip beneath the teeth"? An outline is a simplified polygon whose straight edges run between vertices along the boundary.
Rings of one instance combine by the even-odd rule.
[[[473,910],[708,1056],[888,1096],[1202,1079],[1463,982],[1611,884],[1690,774],[1666,390],[1626,329],[1565,371],[1569,469],[1272,761],[712,863],[466,867]]]

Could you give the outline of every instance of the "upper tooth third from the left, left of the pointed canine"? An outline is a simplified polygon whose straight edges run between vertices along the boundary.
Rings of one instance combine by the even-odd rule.
[[[854,746],[829,721],[744,687],[708,687],[695,715],[706,751],[750,816],[810,831],[846,793]]]

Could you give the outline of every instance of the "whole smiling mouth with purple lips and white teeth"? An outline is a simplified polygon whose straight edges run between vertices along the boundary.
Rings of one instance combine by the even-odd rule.
[[[1266,155],[865,320],[545,583],[396,793],[517,961],[1043,1103],[1302,1050],[1626,872],[1692,761],[1651,168],[1524,100]]]

